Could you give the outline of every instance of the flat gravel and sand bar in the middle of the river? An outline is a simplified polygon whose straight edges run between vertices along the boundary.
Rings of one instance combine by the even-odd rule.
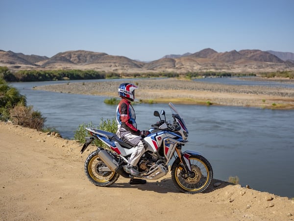
[[[118,85],[123,82],[138,85],[136,99],[145,103],[172,102],[175,104],[294,109],[294,88],[224,85],[178,79],[63,83],[38,86],[34,89],[117,97]]]

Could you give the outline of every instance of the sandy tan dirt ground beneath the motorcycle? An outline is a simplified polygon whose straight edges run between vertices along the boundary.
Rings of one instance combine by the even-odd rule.
[[[84,174],[95,147],[82,155],[80,148],[0,121],[0,220],[294,220],[294,200],[219,180],[198,194],[179,193],[170,173],[146,185],[120,177],[111,187],[96,187]]]

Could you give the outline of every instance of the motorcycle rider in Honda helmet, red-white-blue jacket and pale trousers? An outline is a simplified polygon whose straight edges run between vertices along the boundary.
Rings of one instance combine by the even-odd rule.
[[[116,119],[118,122],[117,136],[124,142],[130,144],[134,148],[134,152],[128,159],[128,165],[125,167],[126,172],[133,176],[140,176],[137,169],[137,164],[141,156],[145,153],[143,138],[140,135],[146,136],[148,131],[137,129],[136,115],[131,105],[131,101],[135,99],[135,89],[138,87],[132,83],[122,83],[119,86],[119,96],[122,98],[117,110]],[[130,184],[145,184],[146,180],[131,179]]]

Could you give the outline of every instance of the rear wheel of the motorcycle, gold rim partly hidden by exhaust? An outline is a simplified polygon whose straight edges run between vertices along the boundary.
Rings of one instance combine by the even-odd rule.
[[[85,173],[91,183],[99,187],[110,186],[116,182],[120,174],[114,171],[103,171],[107,167],[98,157],[98,151],[92,152],[85,162]]]

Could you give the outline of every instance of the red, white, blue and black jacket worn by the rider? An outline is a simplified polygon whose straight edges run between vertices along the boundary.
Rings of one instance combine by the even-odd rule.
[[[118,129],[123,127],[132,134],[140,134],[140,130],[137,129],[135,111],[130,101],[122,98],[116,110],[116,120]]]

